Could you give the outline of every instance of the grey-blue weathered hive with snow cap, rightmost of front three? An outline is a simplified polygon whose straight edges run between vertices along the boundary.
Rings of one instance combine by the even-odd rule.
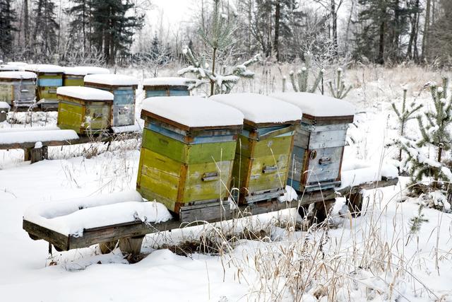
[[[340,185],[347,127],[353,122],[355,107],[344,100],[313,93],[271,96],[303,111],[302,125],[295,133],[287,184],[308,192]]]

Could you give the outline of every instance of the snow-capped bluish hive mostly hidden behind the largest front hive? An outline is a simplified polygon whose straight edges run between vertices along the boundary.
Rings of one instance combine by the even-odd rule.
[[[194,80],[186,78],[149,78],[143,81],[143,90],[146,98],[155,96],[190,95],[189,85]]]

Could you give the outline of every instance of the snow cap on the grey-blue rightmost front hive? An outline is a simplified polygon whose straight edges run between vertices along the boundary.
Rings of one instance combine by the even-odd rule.
[[[355,106],[345,100],[314,93],[273,93],[273,98],[292,103],[313,117],[342,117],[355,115]]]

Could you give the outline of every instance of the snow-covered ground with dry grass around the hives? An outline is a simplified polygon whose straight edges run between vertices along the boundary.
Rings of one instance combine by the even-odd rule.
[[[289,69],[261,68],[256,79],[235,91],[281,91],[280,70],[288,74]],[[149,76],[141,69],[118,72],[140,80]],[[174,69],[163,69],[160,76],[174,76]],[[346,76],[354,86],[346,100],[359,113],[348,131],[343,168],[392,163],[398,150],[384,148],[398,131],[391,101],[405,86],[428,108],[429,93],[420,91],[441,74],[400,66],[354,69]],[[141,125],[142,100],[138,86]],[[27,127],[30,121],[33,127],[56,125],[55,113],[16,119]],[[417,134],[413,126],[415,121],[410,135]],[[25,126],[0,123],[0,136],[11,127]],[[32,205],[133,190],[140,144],[114,143],[108,151],[103,144],[50,147],[51,160],[33,165],[23,162],[23,151],[0,151],[0,301],[452,301],[452,214],[424,209],[428,221],[410,233],[419,204],[398,202],[406,178],[396,187],[367,191],[366,214],[358,218],[338,198],[328,226],[321,228],[301,231],[299,217],[287,210],[223,228],[154,233],[143,242],[145,257],[134,264],[119,250],[101,255],[97,246],[54,250],[49,257],[47,242],[33,241],[23,231],[23,214]],[[255,235],[237,235],[245,229]],[[212,240],[216,253],[171,251],[199,238]]]

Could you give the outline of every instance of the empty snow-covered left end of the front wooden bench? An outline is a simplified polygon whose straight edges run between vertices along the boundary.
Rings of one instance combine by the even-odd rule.
[[[143,202],[136,191],[37,204],[27,209],[23,228],[61,250],[100,243],[102,252],[119,240],[122,252],[137,254],[150,223],[172,219],[163,204]],[[113,246],[110,243],[114,243]]]

